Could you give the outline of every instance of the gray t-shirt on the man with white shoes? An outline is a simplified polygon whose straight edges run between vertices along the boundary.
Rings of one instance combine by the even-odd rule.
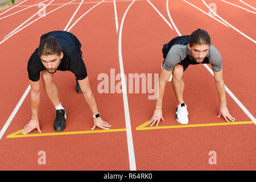
[[[181,38],[182,36],[180,36]],[[179,38],[178,38],[179,39]],[[182,38],[181,38],[182,39]],[[183,38],[184,39],[184,38]],[[176,64],[200,64],[196,63],[195,60],[192,60],[189,56],[189,49],[187,45],[179,44],[179,41],[175,41],[177,44],[171,47],[168,52],[166,59],[163,63],[163,68],[167,71],[172,71]],[[210,63],[212,65],[212,69],[214,72],[221,71],[222,69],[222,58],[220,52],[218,52],[217,48],[210,44],[209,51],[204,61],[201,64]]]

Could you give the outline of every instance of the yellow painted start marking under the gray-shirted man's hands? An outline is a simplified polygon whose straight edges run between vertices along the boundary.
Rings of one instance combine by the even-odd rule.
[[[253,121],[241,121],[241,122],[225,122],[225,123],[206,123],[206,124],[194,124],[194,125],[173,125],[173,126],[151,126],[146,127],[149,121],[138,126],[136,130],[154,130],[154,129],[176,129],[180,127],[200,127],[200,126],[222,126],[222,125],[243,125],[254,124]]]

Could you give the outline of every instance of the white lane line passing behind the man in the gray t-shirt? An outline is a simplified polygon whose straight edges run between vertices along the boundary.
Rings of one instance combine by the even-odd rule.
[[[167,11],[169,12],[168,15],[169,15],[169,17],[170,17],[170,19],[171,19],[172,25],[173,25],[174,27],[176,27],[174,21],[172,21],[171,15],[170,15],[169,6],[168,6],[168,1],[169,1],[169,0],[167,0],[167,2],[166,2],[166,4],[167,4],[167,5],[166,5],[166,8],[167,8]],[[178,34],[179,36],[181,36],[179,30],[177,30],[177,27],[175,28],[175,30],[176,30],[177,34]],[[212,69],[210,69],[210,67],[209,67],[207,64],[203,64],[203,65],[204,65],[205,68],[207,68],[207,70],[210,72],[210,74],[212,74],[212,76],[214,76]],[[241,107],[241,109],[242,109],[242,110],[245,112],[245,114],[251,119],[251,121],[253,121],[253,122],[256,124],[256,120],[255,120],[254,116],[246,109],[246,107],[240,102],[240,100],[238,100],[238,98],[237,98],[236,96],[234,96],[234,94],[231,92],[231,90],[230,90],[226,85],[225,85],[225,90],[226,90],[226,92],[229,94],[229,96],[233,98],[233,100],[237,103],[237,105]]]

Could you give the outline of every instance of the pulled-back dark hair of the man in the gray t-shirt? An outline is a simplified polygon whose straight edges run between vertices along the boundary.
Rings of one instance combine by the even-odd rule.
[[[192,47],[194,44],[210,45],[210,36],[208,32],[201,29],[193,31],[193,33],[189,37],[189,45]]]

